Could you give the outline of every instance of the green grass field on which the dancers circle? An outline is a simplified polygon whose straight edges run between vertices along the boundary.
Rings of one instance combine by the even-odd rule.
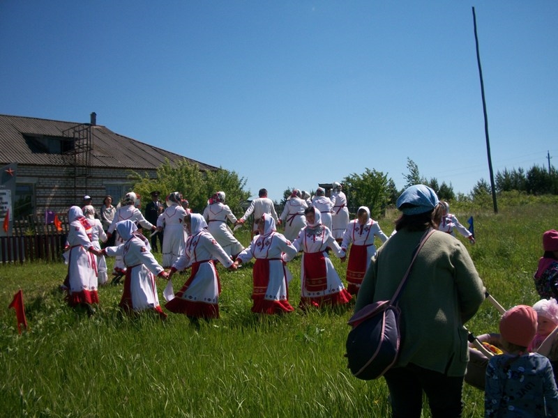
[[[465,224],[474,215],[477,243],[466,243],[488,291],[508,308],[538,300],[532,275],[541,235],[556,229],[558,199],[512,196],[452,207]],[[393,229],[395,213],[379,219]],[[248,244],[249,234],[239,238]],[[344,277],[346,264],[333,257]],[[89,318],[63,302],[63,263],[0,265],[0,417],[387,417],[383,379],[362,382],[346,369],[347,309],[285,316],[251,314],[251,263],[219,267],[221,318],[199,330],[181,315],[164,323],[123,316],[122,286],[100,288]],[[289,300],[299,302],[299,258]],[[174,290],[187,276],[176,276]],[[166,282],[159,281],[163,302]],[[8,309],[22,288],[29,330],[17,333]],[[420,295],[417,295],[420,297]],[[467,327],[497,330],[499,314],[485,302]],[[483,416],[483,393],[465,385],[464,417]],[[429,416],[425,407],[424,417]]]

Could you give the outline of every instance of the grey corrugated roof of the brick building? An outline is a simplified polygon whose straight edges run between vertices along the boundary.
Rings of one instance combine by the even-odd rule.
[[[63,131],[80,125],[79,122],[52,121],[24,116],[0,115],[0,163],[66,166],[73,162],[68,155],[33,153],[24,135],[63,137]],[[87,124],[85,124],[87,125]],[[202,170],[215,170],[209,164],[191,160],[132,138],[116,134],[103,125],[93,125],[93,152],[91,167],[128,168],[133,170],[156,169],[165,162],[185,158],[198,164]]]

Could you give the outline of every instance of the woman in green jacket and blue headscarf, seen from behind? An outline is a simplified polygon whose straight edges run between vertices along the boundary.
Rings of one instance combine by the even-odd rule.
[[[397,233],[372,258],[355,311],[389,300],[429,229],[437,229],[443,207],[434,190],[414,185],[397,201]],[[467,366],[467,330],[485,298],[485,288],[467,249],[435,231],[419,252],[399,307],[401,345],[397,362],[384,375],[393,417],[420,417],[423,392],[432,417],[460,417]]]

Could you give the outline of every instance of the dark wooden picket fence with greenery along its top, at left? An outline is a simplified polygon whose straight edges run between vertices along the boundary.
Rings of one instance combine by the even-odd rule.
[[[59,215],[61,231],[54,224],[45,224],[45,219],[27,216],[14,219],[12,235],[0,237],[1,263],[23,263],[24,261],[61,261],[68,235],[68,219]]]

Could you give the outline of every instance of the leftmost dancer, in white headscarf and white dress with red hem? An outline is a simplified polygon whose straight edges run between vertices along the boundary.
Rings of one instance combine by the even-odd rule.
[[[64,283],[68,291],[66,299],[70,306],[83,304],[93,313],[90,304],[99,302],[95,256],[103,254],[103,251],[93,247],[91,225],[81,208],[72,206],[68,210],[68,221],[68,277]]]

